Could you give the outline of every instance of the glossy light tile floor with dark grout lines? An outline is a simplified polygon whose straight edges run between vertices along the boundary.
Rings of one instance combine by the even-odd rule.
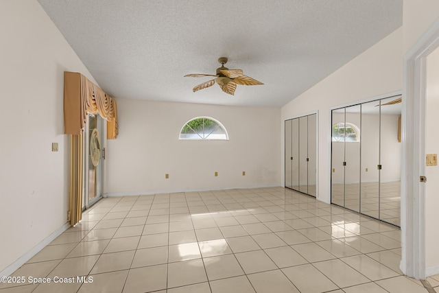
[[[399,271],[400,237],[282,187],[104,198],[0,293],[427,292]]]

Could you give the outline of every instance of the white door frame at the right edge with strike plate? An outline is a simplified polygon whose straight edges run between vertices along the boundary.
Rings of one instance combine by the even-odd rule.
[[[427,56],[439,47],[439,20],[407,51],[403,64],[400,269],[409,277],[425,279],[434,270],[425,267],[425,99]]]

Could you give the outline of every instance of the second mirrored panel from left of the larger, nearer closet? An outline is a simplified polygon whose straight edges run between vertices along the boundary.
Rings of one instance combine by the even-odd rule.
[[[346,107],[344,122],[344,207],[359,212],[361,106]]]

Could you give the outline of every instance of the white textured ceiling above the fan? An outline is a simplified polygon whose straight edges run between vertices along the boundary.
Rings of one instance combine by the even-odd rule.
[[[112,97],[280,107],[402,25],[402,0],[38,0]],[[264,85],[216,84],[217,59]]]

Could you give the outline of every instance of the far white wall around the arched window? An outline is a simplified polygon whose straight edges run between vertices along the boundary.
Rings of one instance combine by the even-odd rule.
[[[279,108],[117,99],[117,110],[119,136],[107,142],[106,194],[281,185]],[[221,122],[229,140],[178,140],[182,126],[199,116]]]

